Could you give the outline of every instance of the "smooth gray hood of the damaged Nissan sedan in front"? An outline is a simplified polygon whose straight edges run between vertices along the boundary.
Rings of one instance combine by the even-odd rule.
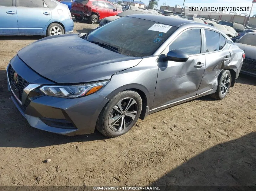
[[[142,60],[102,48],[78,34],[43,38],[21,49],[18,56],[35,72],[56,83],[110,79]]]

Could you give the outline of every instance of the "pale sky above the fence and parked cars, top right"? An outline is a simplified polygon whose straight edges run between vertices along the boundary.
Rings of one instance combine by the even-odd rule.
[[[145,0],[144,0],[145,2]],[[158,1],[158,8],[160,8],[161,5],[165,5],[165,2],[166,2],[166,5],[169,5],[170,7],[175,7],[175,5],[181,5],[182,7],[182,4],[183,4],[183,0],[159,0]],[[145,2],[146,5],[148,5],[148,2]],[[200,7],[201,6],[212,6],[211,3],[214,3],[213,6],[216,6],[216,3],[218,3],[218,6],[231,6],[231,7],[234,7],[234,6],[249,6],[251,8],[251,3],[252,3],[252,0],[185,0],[185,5],[186,3],[189,3],[189,5],[191,5],[191,3],[195,3],[196,6],[198,6],[198,3],[200,3]],[[246,11],[243,11],[246,13]],[[249,14],[249,12],[248,12]],[[256,3],[254,3],[253,5],[253,9],[252,9],[252,13],[251,13],[251,16],[256,14]]]

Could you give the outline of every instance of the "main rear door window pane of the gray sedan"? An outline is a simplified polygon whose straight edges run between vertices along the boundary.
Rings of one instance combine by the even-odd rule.
[[[206,52],[213,52],[220,49],[220,34],[211,30],[205,31]]]

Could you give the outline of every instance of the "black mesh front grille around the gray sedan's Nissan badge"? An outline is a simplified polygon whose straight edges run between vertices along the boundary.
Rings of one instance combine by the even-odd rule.
[[[23,90],[28,86],[29,83],[25,79],[23,79],[22,77],[20,77],[18,75],[18,83],[15,84],[14,79],[13,79],[14,73],[15,73],[14,69],[12,68],[11,65],[9,65],[8,77],[9,77],[10,86],[11,86],[12,91],[14,92],[14,94],[21,101]]]

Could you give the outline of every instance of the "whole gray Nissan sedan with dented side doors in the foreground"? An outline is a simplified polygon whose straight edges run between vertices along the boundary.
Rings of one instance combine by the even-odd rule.
[[[159,110],[205,95],[223,99],[243,58],[210,25],[135,14],[21,49],[7,67],[8,89],[32,127],[116,137]]]

